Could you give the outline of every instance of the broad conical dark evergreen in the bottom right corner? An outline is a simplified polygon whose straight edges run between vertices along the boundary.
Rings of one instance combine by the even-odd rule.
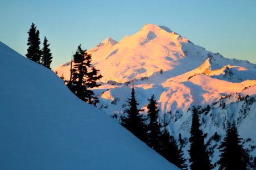
[[[249,154],[243,149],[239,138],[236,123],[227,128],[226,137],[219,147],[221,155],[218,164],[220,169],[246,169],[249,163]]]

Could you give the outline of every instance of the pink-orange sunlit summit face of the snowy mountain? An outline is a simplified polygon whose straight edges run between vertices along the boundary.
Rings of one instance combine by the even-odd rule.
[[[151,76],[161,69],[164,71],[175,69],[180,65],[180,59],[186,56],[184,52],[192,48],[187,48],[187,43],[187,39],[171,32],[168,27],[146,24],[134,35],[126,36],[119,42],[108,37],[88,50],[88,53],[93,54],[93,63],[97,63],[97,67],[112,68],[101,69],[101,74],[104,75],[102,82],[113,80],[123,83]],[[188,56],[191,56],[190,53]],[[69,69],[70,67],[65,71],[67,74],[70,74]],[[57,69],[59,74],[70,76],[66,76],[61,70]]]

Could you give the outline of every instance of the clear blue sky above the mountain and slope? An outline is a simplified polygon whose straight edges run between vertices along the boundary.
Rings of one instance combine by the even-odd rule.
[[[256,63],[256,1],[55,1],[1,0],[0,41],[22,54],[34,22],[46,36],[52,68],[69,61],[77,46],[90,49],[107,37],[121,40],[146,23],[164,25],[227,58]]]

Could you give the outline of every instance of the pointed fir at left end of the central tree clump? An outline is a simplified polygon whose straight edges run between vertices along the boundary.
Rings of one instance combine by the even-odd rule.
[[[128,98],[127,104],[129,108],[126,108],[124,111],[125,115],[122,117],[122,125],[144,141],[144,118],[139,114],[141,110],[137,108],[138,102],[135,99],[134,86],[131,88],[131,98]]]

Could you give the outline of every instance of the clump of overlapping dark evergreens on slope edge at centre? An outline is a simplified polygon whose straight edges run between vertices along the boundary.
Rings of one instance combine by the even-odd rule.
[[[149,147],[166,158],[177,167],[186,169],[185,159],[181,147],[177,145],[174,137],[168,131],[168,123],[159,123],[159,109],[155,96],[148,99],[147,117],[140,114],[142,110],[138,109],[138,102],[135,99],[134,86],[131,89],[131,97],[127,99],[127,108],[121,118],[121,125],[131,131],[136,137],[141,139]],[[149,122],[148,122],[148,121]],[[148,123],[147,123],[148,122]],[[162,130],[161,130],[162,129]]]

